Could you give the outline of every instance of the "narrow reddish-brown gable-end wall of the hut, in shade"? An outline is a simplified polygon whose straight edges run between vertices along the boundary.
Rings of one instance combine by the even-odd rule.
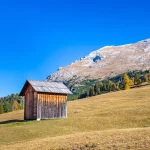
[[[25,120],[37,118],[37,92],[34,91],[31,85],[28,86],[25,92],[24,107]]]

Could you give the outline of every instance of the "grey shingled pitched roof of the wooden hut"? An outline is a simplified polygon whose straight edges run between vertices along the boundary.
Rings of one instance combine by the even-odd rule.
[[[36,92],[42,93],[60,93],[60,94],[72,94],[72,92],[61,82],[51,81],[39,81],[39,80],[27,80],[24,84],[20,96],[24,96],[27,86],[31,85]]]

